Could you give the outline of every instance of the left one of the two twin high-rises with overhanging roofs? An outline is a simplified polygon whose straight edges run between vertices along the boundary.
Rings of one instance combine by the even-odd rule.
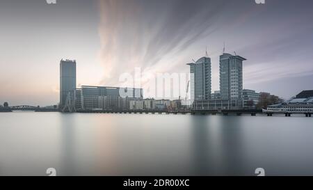
[[[195,63],[188,63],[191,73],[191,100],[211,98],[211,58],[202,57]]]

